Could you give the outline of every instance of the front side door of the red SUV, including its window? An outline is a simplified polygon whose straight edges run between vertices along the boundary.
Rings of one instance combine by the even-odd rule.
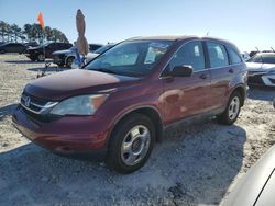
[[[205,66],[201,41],[185,43],[175,53],[165,69],[188,65],[194,68],[191,77],[164,77],[164,114],[166,123],[186,118],[206,110],[210,90],[210,71]]]

